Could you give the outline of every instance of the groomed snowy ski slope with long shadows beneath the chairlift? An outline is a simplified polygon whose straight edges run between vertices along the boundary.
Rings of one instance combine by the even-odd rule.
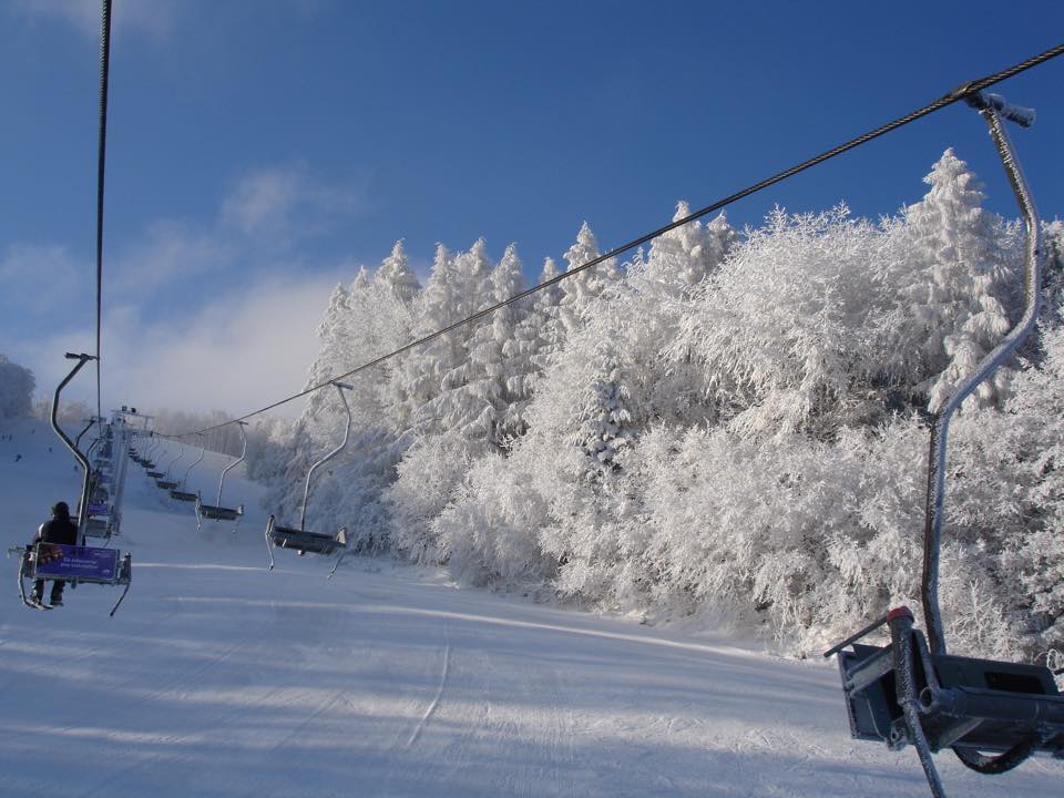
[[[3,548],[78,474],[47,427],[0,423]],[[49,448],[52,449],[49,452]],[[14,462],[17,453],[22,460]],[[193,472],[216,490],[223,461]],[[833,663],[459,590],[444,573],[277,552],[260,490],[196,530],[130,464],[133,586],[37,612],[7,560],[0,795],[925,796],[915,754],[849,737]],[[231,490],[232,489],[232,490]],[[1058,796],[1064,765],[938,763],[953,796]]]

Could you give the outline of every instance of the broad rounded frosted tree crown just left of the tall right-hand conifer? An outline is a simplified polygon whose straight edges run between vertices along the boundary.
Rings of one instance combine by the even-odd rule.
[[[881,244],[845,206],[777,209],[695,291],[669,352],[703,364],[705,390],[733,430],[830,437],[883,411],[894,304]]]

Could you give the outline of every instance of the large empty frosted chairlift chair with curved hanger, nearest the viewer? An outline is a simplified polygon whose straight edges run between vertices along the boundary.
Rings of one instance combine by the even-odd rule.
[[[1005,773],[1034,754],[1064,759],[1064,695],[1054,674],[1040,665],[948,654],[939,611],[950,418],[1034,328],[1042,286],[1039,218],[1002,122],[1005,117],[1026,126],[1033,114],[993,94],[974,93],[966,99],[990,126],[1024,217],[1026,307],[1020,323],[956,388],[931,429],[921,589],[927,636],[913,627],[912,612],[898,607],[825,654],[838,654],[851,736],[882,741],[891,749],[913,745],[932,795],[943,798],[932,759],[943,748],[952,748],[966,767],[982,774]],[[890,631],[889,645],[858,642],[883,624]]]

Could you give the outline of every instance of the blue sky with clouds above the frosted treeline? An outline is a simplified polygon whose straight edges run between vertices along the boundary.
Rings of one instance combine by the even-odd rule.
[[[329,288],[397,238],[422,274],[436,242],[513,241],[534,277],[583,219],[617,245],[1062,39],[1064,4],[1002,8],[114,0],[104,401],[295,392]],[[98,70],[95,0],[0,2],[0,352],[49,391],[93,347]],[[1050,218],[1062,85],[1058,59],[999,89],[1039,111],[1014,137]],[[947,146],[1014,216],[962,106],[728,216],[889,214]]]

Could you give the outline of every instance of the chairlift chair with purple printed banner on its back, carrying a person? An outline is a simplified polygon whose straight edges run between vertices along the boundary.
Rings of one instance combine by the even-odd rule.
[[[89,502],[89,459],[60,428],[58,413],[59,398],[63,388],[66,387],[86,362],[95,358],[90,355],[70,354],[66,355],[66,358],[78,360],[78,364],[55,389],[55,396],[52,400],[51,421],[55,434],[58,434],[60,440],[70,449],[82,469],[81,501],[78,505],[78,530],[81,545],[39,542],[24,546],[13,546],[8,550],[8,554],[18,554],[19,556],[19,594],[25,606],[34,610],[49,608],[43,604],[37,604],[30,601],[25,594],[27,581],[47,579],[70,582],[74,585],[84,582],[122,586],[122,595],[119,596],[119,601],[115,602],[111,608],[111,615],[113,616],[125,598],[126,593],[130,592],[130,584],[133,579],[133,560],[130,554],[123,555],[116,549],[84,545],[85,534],[90,525],[90,510],[93,508]],[[106,510],[106,508],[103,509]]]

